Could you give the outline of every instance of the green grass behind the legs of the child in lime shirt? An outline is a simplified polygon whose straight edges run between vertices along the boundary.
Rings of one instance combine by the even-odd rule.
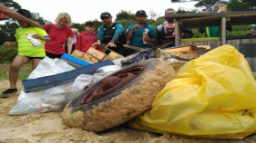
[[[9,68],[12,62],[0,63],[0,81],[9,80]],[[31,63],[27,62],[24,64],[18,76],[18,81],[25,80],[31,72]]]

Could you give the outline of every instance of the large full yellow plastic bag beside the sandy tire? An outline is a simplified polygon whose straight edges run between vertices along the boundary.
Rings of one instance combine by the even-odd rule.
[[[181,67],[130,122],[137,129],[206,138],[244,138],[256,129],[256,82],[243,55],[223,45]]]

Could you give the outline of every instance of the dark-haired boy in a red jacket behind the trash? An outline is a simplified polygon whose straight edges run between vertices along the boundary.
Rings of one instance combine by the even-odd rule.
[[[81,52],[87,52],[90,47],[94,47],[98,51],[102,52],[102,47],[93,45],[97,42],[97,33],[95,33],[95,24],[93,22],[87,22],[84,26],[85,32],[78,34],[76,42],[76,50]]]

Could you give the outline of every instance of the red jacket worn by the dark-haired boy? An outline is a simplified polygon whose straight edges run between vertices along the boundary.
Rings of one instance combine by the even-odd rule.
[[[87,52],[87,50],[91,47],[91,45],[96,42],[97,42],[96,33],[82,32],[77,36],[76,50],[79,50],[81,52]],[[102,52],[101,46],[98,46],[96,49]]]

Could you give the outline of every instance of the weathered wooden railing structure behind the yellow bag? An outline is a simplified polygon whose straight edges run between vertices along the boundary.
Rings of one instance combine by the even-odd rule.
[[[250,41],[256,43],[255,36],[251,37],[226,37],[226,25],[237,24],[256,24],[256,12],[229,12],[229,13],[201,13],[201,14],[166,14],[166,17],[175,18],[175,44],[186,43],[211,43],[213,48],[226,43],[232,43],[238,46],[240,43]],[[181,39],[181,31],[184,28],[199,26],[219,26],[220,37],[212,38],[189,38]],[[248,40],[245,40],[248,39]],[[250,40],[252,39],[252,40]],[[253,40],[254,39],[254,40]],[[237,40],[237,41],[236,41]],[[234,42],[235,41],[235,42]]]

